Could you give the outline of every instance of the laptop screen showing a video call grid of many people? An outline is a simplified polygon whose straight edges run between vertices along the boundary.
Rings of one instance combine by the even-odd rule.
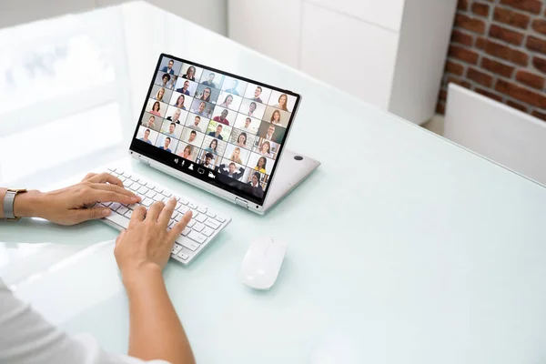
[[[131,150],[263,205],[299,98],[162,54]]]

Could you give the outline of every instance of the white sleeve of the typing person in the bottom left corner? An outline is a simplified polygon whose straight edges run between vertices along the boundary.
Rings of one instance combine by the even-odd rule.
[[[0,363],[143,364],[107,353],[89,335],[76,338],[45,321],[30,305],[15,298],[0,279]],[[168,364],[164,360],[148,364]]]

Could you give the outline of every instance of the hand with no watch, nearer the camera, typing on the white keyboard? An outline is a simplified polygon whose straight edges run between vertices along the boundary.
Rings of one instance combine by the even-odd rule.
[[[133,210],[129,227],[116,240],[114,255],[124,281],[143,270],[165,268],[175,240],[191,220],[191,210],[170,230],[167,225],[177,200],[171,198],[167,206],[154,203],[148,210],[139,206]]]

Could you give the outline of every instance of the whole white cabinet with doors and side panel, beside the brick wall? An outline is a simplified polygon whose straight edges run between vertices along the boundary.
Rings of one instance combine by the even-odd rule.
[[[227,35],[414,123],[434,115],[457,0],[228,0]]]

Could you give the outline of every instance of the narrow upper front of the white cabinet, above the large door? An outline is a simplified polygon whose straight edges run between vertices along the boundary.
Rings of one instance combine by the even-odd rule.
[[[373,25],[399,31],[404,0],[306,0]],[[442,1],[442,0],[439,0]]]

